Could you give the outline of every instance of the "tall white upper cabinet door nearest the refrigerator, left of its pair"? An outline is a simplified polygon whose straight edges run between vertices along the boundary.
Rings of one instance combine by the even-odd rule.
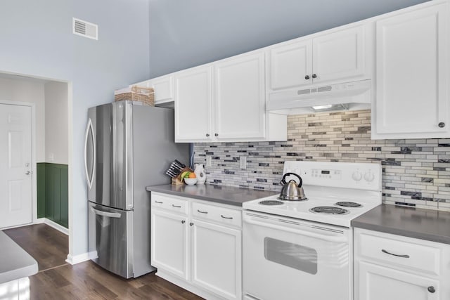
[[[176,73],[175,141],[210,141],[211,67]]]

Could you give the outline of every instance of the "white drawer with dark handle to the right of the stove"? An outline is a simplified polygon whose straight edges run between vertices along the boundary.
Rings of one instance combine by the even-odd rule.
[[[401,239],[401,240],[400,240]],[[408,242],[406,240],[411,240]],[[397,265],[402,268],[420,270],[439,275],[440,249],[414,242],[407,237],[379,237],[359,234],[359,255]]]

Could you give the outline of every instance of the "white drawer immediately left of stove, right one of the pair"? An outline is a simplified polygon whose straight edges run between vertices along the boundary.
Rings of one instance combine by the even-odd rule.
[[[193,202],[192,216],[193,218],[216,221],[231,226],[242,226],[242,211],[236,209]]]

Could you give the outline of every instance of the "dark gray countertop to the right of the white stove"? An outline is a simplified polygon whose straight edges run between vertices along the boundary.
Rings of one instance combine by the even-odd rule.
[[[382,204],[352,221],[368,230],[450,244],[450,212]]]

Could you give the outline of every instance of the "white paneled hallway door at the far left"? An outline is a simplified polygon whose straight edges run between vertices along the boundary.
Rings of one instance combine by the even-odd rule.
[[[30,106],[0,104],[0,228],[32,222]]]

